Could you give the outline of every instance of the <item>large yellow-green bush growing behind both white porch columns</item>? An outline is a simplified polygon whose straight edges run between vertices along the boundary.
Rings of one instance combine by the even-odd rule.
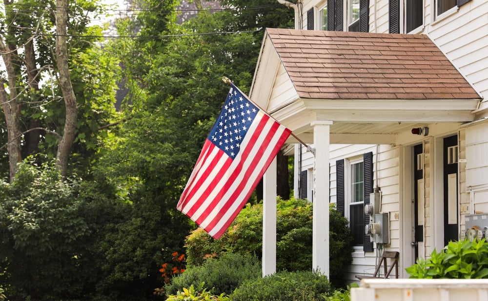
[[[277,201],[277,270],[308,270],[312,265],[312,204],[291,198]],[[186,238],[188,266],[225,252],[262,257],[263,205],[246,205],[224,235],[212,239],[202,229]],[[333,205],[329,211],[330,282],[344,287],[344,266],[352,262],[349,223]]]

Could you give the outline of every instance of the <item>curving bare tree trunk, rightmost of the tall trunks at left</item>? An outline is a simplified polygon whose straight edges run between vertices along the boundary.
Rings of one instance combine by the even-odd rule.
[[[66,117],[64,131],[58,144],[56,155],[56,168],[61,170],[61,175],[66,176],[68,159],[75,138],[77,104],[68,67],[68,54],[66,49],[66,34],[68,25],[68,1],[56,1],[56,61],[58,63],[59,84],[64,98]]]

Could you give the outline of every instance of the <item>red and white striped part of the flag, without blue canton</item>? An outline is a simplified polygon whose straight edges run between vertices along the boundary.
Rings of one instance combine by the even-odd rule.
[[[214,238],[222,236],[239,214],[290,130],[258,111],[246,133],[234,159],[205,141],[177,206]]]

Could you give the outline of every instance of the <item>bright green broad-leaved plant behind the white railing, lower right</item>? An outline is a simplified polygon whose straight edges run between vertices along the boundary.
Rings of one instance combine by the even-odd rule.
[[[427,260],[407,267],[410,278],[480,279],[488,278],[488,243],[486,240],[449,242],[440,252],[435,249]]]

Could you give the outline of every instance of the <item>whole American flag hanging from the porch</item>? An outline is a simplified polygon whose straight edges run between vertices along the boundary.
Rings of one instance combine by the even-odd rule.
[[[231,84],[177,209],[220,238],[290,133]]]

